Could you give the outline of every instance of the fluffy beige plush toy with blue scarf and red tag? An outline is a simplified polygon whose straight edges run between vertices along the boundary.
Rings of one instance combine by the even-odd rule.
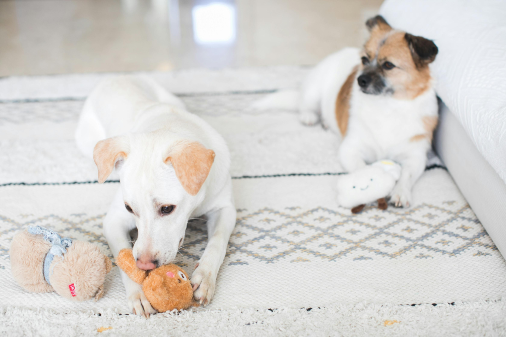
[[[111,260],[89,243],[62,238],[41,226],[30,226],[11,243],[14,279],[29,292],[56,292],[72,301],[98,301],[104,294]]]

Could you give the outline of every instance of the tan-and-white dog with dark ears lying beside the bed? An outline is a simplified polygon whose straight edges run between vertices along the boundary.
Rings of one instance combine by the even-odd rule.
[[[382,16],[366,26],[370,37],[361,51],[347,48],[328,56],[301,91],[275,93],[256,107],[289,108],[298,102],[303,123],[321,120],[341,136],[339,160],[348,172],[381,159],[398,162],[402,173],[391,201],[408,207],[438,121],[429,69],[438,48],[429,39],[392,28]]]

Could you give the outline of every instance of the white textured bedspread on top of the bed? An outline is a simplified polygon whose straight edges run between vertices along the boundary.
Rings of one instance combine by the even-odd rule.
[[[506,182],[506,1],[386,0],[379,13],[434,40],[438,95]]]

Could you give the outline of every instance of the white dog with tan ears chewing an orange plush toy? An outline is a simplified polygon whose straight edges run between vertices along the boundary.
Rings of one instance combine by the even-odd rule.
[[[121,185],[104,219],[114,256],[132,247],[129,232],[137,227],[137,266],[168,264],[188,220],[207,217],[207,247],[191,277],[195,299],[206,305],[236,219],[224,139],[152,80],[124,76],[103,81],[90,94],[76,140],[93,156],[99,182],[114,167],[119,173]],[[121,277],[131,310],[145,317],[155,313],[141,286],[123,272]]]

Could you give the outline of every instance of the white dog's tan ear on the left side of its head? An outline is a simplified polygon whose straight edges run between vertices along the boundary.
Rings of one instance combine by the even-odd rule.
[[[93,150],[93,159],[98,168],[98,182],[104,182],[111,174],[116,162],[126,159],[129,151],[128,139],[124,136],[100,140]]]

